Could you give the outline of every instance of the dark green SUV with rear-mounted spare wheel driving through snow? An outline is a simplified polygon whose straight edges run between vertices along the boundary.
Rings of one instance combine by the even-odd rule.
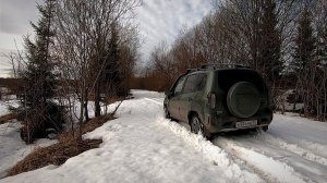
[[[206,137],[218,132],[262,127],[272,120],[263,77],[241,65],[206,64],[181,75],[164,101],[166,118],[187,122]]]

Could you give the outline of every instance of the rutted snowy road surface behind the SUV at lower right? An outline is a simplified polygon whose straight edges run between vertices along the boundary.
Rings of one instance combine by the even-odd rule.
[[[326,182],[326,143],[323,141],[327,142],[326,125],[286,118],[276,115],[267,133],[219,136],[213,143],[262,172],[269,181]]]

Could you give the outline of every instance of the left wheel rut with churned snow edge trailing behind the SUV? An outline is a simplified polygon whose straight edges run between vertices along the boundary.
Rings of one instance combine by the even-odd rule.
[[[158,122],[170,129],[177,136],[182,137],[186,143],[202,151],[204,157],[213,163],[223,167],[230,172],[231,179],[240,179],[243,182],[312,182],[307,178],[298,174],[290,166],[264,156],[256,151],[237,146],[232,141],[225,141],[225,144],[211,144],[199,135],[191,133],[182,125],[158,118]],[[235,159],[237,158],[237,159]],[[244,173],[244,174],[242,174]],[[254,181],[255,180],[255,181]]]

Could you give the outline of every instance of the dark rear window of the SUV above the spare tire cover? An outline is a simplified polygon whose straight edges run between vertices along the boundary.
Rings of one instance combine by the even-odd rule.
[[[238,82],[250,82],[254,84],[261,93],[265,91],[265,83],[262,76],[251,70],[222,70],[218,71],[218,85],[221,89],[228,90]]]

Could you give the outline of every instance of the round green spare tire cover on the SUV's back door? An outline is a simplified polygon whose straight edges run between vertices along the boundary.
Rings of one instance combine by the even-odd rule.
[[[261,107],[261,94],[252,83],[235,83],[228,91],[227,106],[235,117],[252,117]]]

